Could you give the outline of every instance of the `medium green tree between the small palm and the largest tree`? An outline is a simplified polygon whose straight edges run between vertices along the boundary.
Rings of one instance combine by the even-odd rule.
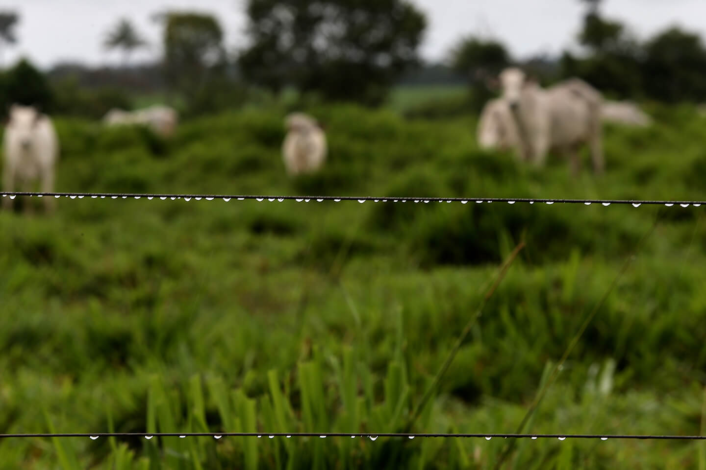
[[[210,78],[226,73],[223,30],[216,18],[201,13],[166,12],[159,18],[165,23],[167,87],[181,92],[189,103],[203,92]]]

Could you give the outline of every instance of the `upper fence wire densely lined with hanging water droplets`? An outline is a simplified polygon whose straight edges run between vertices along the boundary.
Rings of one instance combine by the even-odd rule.
[[[214,199],[222,199],[225,202],[231,199],[237,199],[243,201],[245,199],[256,199],[257,201],[268,201],[268,202],[282,202],[287,199],[294,199],[297,202],[323,202],[325,200],[333,200],[334,202],[341,201],[358,201],[360,203],[366,201],[373,202],[461,202],[462,204],[467,204],[468,202],[507,202],[508,204],[515,204],[516,202],[529,202],[534,204],[535,202],[544,204],[585,204],[589,206],[590,204],[602,204],[604,206],[609,206],[611,204],[632,204],[635,207],[639,207],[642,204],[648,205],[664,205],[664,206],[674,206],[675,204],[682,207],[694,206],[698,207],[702,204],[706,204],[706,201],[669,201],[669,200],[639,200],[639,199],[557,199],[557,198],[539,198],[539,197],[379,197],[379,196],[272,196],[272,195],[253,195],[253,194],[139,194],[139,193],[115,193],[115,192],[13,192],[13,191],[0,191],[2,197],[10,197],[15,199],[17,196],[30,196],[30,197],[68,197],[71,199],[83,199],[89,197],[91,199],[184,199],[190,201],[195,199],[200,201],[205,199],[207,201],[213,201]]]

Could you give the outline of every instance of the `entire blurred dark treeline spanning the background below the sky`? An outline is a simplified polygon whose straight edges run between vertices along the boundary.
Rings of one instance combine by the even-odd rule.
[[[162,29],[155,63],[131,65],[149,44],[125,18],[107,32],[104,48],[124,53],[116,68],[62,64],[42,73],[26,60],[0,76],[0,105],[38,104],[44,109],[98,118],[112,107],[130,107],[136,93],[163,94],[183,116],[242,106],[253,97],[278,99],[287,88],[306,102],[354,101],[379,106],[390,88],[467,83],[478,110],[492,96],[483,76],[519,64],[545,84],[581,77],[607,96],[676,103],[706,101],[706,49],[697,34],[670,27],[644,42],[630,28],[605,18],[601,0],[587,4],[578,44],[584,53],[517,61],[502,42],[465,37],[448,60],[424,64],[418,49],[427,20],[407,0],[247,0],[246,47],[224,44],[215,16],[167,11],[154,16]],[[0,46],[18,42],[16,13],[0,13]],[[301,102],[301,101],[300,101]]]

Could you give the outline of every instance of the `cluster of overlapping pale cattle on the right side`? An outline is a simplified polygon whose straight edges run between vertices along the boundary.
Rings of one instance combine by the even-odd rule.
[[[645,127],[652,119],[629,101],[606,101],[601,92],[578,78],[542,88],[519,68],[503,70],[486,80],[501,96],[489,101],[478,122],[478,143],[484,149],[515,149],[520,161],[542,166],[554,150],[578,173],[579,151],[590,148],[596,173],[604,169],[604,122]]]

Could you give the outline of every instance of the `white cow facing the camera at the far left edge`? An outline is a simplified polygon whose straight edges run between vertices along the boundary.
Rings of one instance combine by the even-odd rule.
[[[42,192],[54,190],[54,170],[59,159],[59,138],[52,119],[33,106],[13,104],[3,138],[5,191],[31,191],[32,183],[41,180]],[[3,197],[3,208],[12,208],[12,199]],[[54,209],[54,198],[44,197],[47,212]],[[28,206],[28,210],[31,207]]]

